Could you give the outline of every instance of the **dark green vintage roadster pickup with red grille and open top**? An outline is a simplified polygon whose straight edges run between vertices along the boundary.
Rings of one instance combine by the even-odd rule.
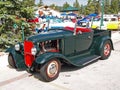
[[[59,76],[64,63],[84,66],[97,59],[107,59],[111,50],[110,31],[65,27],[30,36],[9,48],[8,62],[16,69],[39,72],[49,82]]]

